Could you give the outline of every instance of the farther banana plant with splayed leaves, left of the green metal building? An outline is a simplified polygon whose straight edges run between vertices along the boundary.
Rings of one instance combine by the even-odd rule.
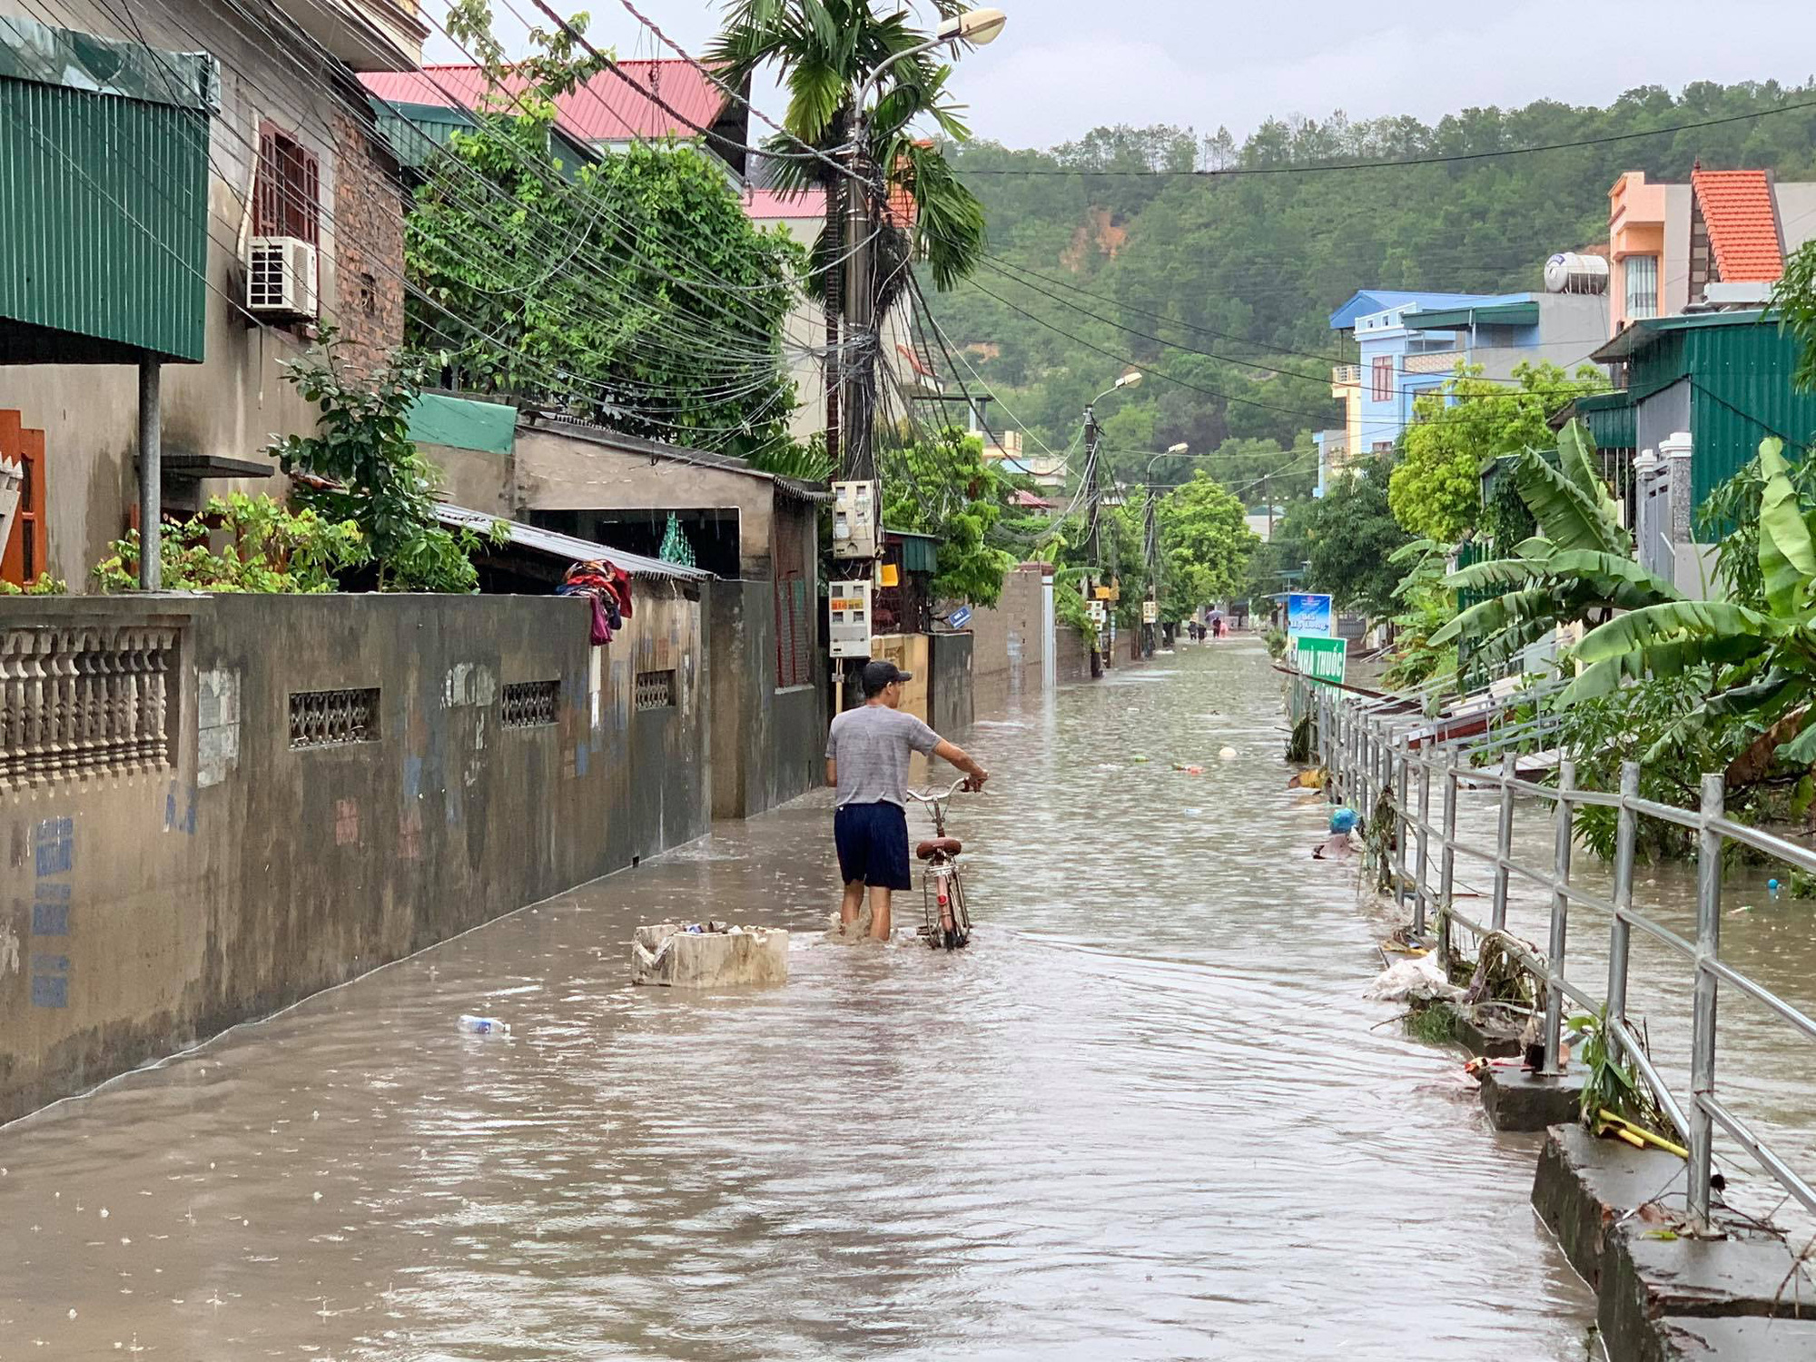
[[[1633,539],[1620,523],[1594,463],[1594,443],[1580,421],[1558,432],[1558,463],[1522,450],[1513,479],[1538,523],[1538,534],[1507,558],[1475,563],[1446,577],[1453,590],[1498,588],[1498,596],[1460,610],[1431,636],[1433,646],[1471,641],[1489,668],[1511,663],[1527,645],[1558,625],[1602,625],[1614,610],[1638,610],[1682,599],[1665,579],[1633,559]]]

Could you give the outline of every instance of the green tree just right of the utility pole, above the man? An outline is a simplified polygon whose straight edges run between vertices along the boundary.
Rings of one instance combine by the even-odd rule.
[[[1015,559],[992,541],[1008,487],[982,452],[979,436],[957,429],[895,450],[883,469],[883,521],[939,539],[935,596],[990,607]]]

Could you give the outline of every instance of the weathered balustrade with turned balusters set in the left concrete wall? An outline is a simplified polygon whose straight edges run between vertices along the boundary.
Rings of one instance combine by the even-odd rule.
[[[174,628],[0,628],[0,788],[171,765]]]

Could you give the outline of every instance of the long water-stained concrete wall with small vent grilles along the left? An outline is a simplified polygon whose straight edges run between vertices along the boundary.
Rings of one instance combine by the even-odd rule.
[[[703,603],[637,587],[605,648],[558,597],[0,603],[0,637],[180,630],[169,768],[0,786],[0,1120],[701,835]],[[501,726],[514,681],[552,725]],[[289,696],[341,686],[376,741],[292,750]]]

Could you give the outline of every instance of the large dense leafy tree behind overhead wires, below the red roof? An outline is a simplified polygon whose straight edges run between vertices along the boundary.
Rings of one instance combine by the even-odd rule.
[[[505,87],[483,4],[461,7]],[[634,143],[579,167],[554,151],[556,94],[590,73],[532,35],[508,89],[456,133],[405,220],[410,345],[459,387],[648,439],[745,454],[786,443],[781,331],[804,254],[757,231],[725,167]]]

